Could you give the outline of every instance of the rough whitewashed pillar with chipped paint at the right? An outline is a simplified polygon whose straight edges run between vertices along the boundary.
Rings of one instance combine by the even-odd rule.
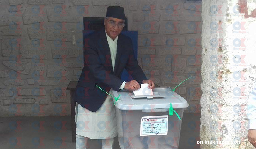
[[[202,1],[200,139],[222,142],[201,149],[252,147],[247,99],[256,80],[255,8],[256,0]]]

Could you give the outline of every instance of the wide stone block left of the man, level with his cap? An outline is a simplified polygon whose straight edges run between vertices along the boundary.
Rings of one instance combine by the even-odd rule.
[[[78,23],[80,21],[76,8],[66,5],[56,5],[54,8],[47,9],[49,22]]]

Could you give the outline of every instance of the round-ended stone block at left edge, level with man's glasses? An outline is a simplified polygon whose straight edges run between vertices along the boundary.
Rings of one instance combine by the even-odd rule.
[[[1,14],[0,20],[0,26],[20,25],[22,22],[21,17],[10,15],[9,13]]]

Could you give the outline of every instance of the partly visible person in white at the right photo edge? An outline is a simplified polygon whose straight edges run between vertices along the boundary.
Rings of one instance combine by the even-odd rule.
[[[249,96],[248,105],[248,141],[256,148],[256,88],[254,88]]]

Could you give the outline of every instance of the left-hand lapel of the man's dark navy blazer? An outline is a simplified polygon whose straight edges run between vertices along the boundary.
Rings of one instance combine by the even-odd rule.
[[[107,42],[107,37],[106,37],[106,33],[105,33],[105,29],[103,28],[103,30],[101,30],[100,32],[100,37],[101,37],[101,43],[102,43],[102,51],[105,53],[106,56],[106,61],[108,63],[110,63],[110,69],[111,72],[113,73],[113,67],[112,67],[112,60],[111,60],[111,55],[110,55],[110,48]]]

